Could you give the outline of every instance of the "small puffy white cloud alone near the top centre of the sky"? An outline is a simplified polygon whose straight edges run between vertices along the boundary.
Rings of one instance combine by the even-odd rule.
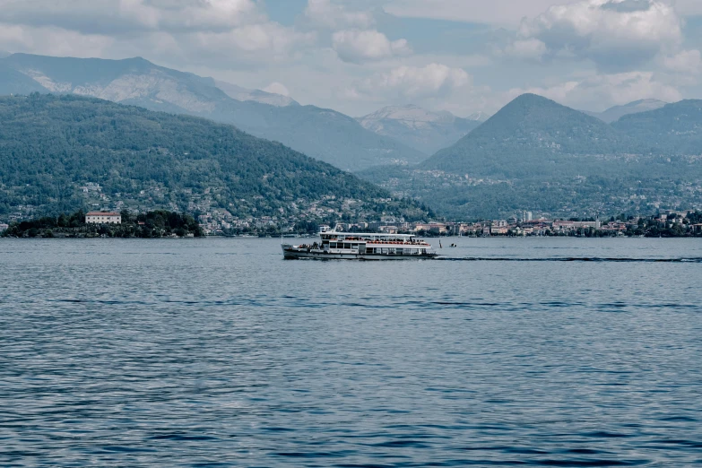
[[[353,64],[412,54],[405,39],[391,42],[377,30],[340,30],[334,32],[332,41],[339,58]]]

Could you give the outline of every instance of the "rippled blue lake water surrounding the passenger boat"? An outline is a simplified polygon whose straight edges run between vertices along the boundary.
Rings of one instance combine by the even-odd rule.
[[[702,463],[702,241],[453,241],[2,239],[0,465]]]

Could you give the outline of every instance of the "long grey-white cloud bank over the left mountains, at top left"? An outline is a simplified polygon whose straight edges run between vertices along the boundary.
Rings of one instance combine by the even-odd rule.
[[[253,0],[0,0],[3,21],[0,49],[171,64],[288,60],[316,40],[269,21]]]

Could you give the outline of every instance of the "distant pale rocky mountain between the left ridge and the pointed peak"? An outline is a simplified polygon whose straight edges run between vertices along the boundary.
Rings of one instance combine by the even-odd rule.
[[[431,112],[412,105],[381,108],[357,120],[376,134],[408,143],[428,154],[450,146],[481,124],[447,111]]]

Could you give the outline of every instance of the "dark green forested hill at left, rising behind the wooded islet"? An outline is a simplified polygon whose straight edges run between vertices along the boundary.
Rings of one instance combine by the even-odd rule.
[[[0,98],[0,215],[70,211],[98,191],[101,205],[117,209],[118,201],[288,216],[329,199],[356,200],[368,215],[418,213],[414,204],[378,202],[388,195],[377,186],[232,126],[70,95]]]

